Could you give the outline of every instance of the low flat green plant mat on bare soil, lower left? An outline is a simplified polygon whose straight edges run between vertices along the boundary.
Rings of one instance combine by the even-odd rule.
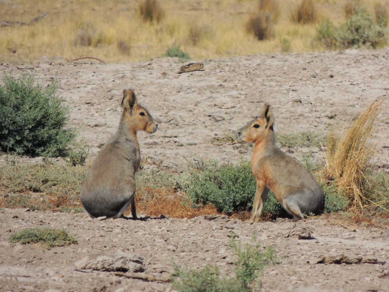
[[[8,241],[10,243],[20,242],[23,245],[40,243],[48,249],[54,246],[68,246],[77,243],[77,239],[74,236],[68,235],[66,230],[50,228],[27,228],[12,234]]]

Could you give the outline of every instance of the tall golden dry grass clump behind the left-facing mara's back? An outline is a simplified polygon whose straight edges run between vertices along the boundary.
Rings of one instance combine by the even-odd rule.
[[[354,209],[372,203],[366,192],[370,184],[367,172],[377,144],[372,140],[382,102],[373,102],[341,136],[336,136],[334,130],[328,134],[327,177],[335,180]]]

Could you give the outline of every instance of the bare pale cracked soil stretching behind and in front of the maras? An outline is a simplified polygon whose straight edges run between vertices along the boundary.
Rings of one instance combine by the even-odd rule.
[[[138,102],[159,119],[155,134],[138,134],[144,170],[158,161],[158,167],[179,172],[193,159],[249,160],[252,147],[212,138],[235,136],[264,102],[274,107],[276,133],[312,131],[325,137],[332,125],[343,129],[389,90],[389,49],[196,61],[204,63],[203,71],[178,74],[182,64],[177,59],[161,58],[127,64],[46,62],[35,67],[1,63],[0,75],[32,73],[44,86],[56,76],[61,82],[58,92],[72,108],[69,125],[79,128],[79,140],[91,146],[89,159],[116,131],[122,90],[133,88]],[[385,101],[378,117],[373,157],[373,165],[385,171],[388,105]],[[298,159],[312,153],[324,160],[324,152],[316,147],[296,146],[288,153]],[[0,157],[0,164],[5,159]],[[389,229],[349,225],[328,215],[253,225],[221,215],[143,216],[142,221],[99,221],[84,213],[0,209],[0,291],[169,291],[173,262],[192,268],[216,264],[223,275],[232,276],[236,257],[228,249],[231,233],[242,243],[256,233],[263,247],[276,247],[279,263],[265,270],[264,291],[389,291]],[[10,234],[26,227],[65,228],[78,244],[46,250],[7,242]],[[299,239],[299,232],[307,230],[311,237]],[[118,251],[126,259],[138,259],[144,271],[95,271],[77,262]]]

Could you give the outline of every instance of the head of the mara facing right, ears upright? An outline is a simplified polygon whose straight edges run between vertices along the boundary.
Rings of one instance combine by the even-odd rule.
[[[121,107],[133,130],[147,133],[154,133],[157,130],[158,123],[152,118],[147,109],[138,105],[137,97],[131,89],[123,90]]]

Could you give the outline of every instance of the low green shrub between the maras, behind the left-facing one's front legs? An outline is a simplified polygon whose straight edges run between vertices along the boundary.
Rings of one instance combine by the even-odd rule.
[[[194,206],[213,204],[220,212],[232,214],[250,210],[256,191],[256,181],[250,162],[217,166],[217,161],[190,165],[189,174],[179,179],[179,187],[187,193]],[[284,214],[284,209],[272,192],[269,193],[264,213]]]

